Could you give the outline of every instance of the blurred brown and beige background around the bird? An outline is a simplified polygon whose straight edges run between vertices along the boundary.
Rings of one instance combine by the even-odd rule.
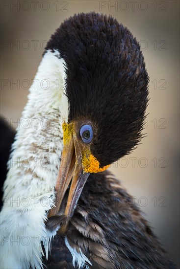
[[[150,75],[142,144],[111,166],[179,262],[179,6],[173,1],[1,1],[0,114],[17,127],[43,48],[78,12],[112,14],[140,42]],[[17,85],[15,85],[17,83]]]

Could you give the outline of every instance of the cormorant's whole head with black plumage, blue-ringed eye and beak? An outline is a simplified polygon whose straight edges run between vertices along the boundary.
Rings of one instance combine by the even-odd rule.
[[[64,212],[68,224],[89,174],[104,171],[139,143],[149,77],[140,45],[110,16],[71,17],[46,49],[58,50],[66,63],[69,115],[62,126],[64,148],[50,216],[58,214],[71,182]]]

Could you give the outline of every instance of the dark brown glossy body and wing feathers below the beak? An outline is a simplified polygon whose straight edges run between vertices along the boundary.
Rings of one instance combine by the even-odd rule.
[[[66,237],[70,246],[77,252],[80,248],[92,263],[89,268],[175,268],[132,198],[107,171],[89,176]],[[54,237],[45,265],[73,268],[63,236]]]

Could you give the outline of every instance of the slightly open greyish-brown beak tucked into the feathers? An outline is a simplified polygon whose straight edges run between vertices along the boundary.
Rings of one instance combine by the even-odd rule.
[[[61,164],[55,186],[55,207],[53,207],[49,213],[49,217],[58,215],[58,212],[61,209],[63,198],[72,180],[64,212],[65,222],[60,227],[60,233],[64,233],[66,231],[67,225],[74,214],[78,199],[89,174],[90,173],[83,172],[81,153],[79,150],[77,137],[71,131],[70,137],[68,141],[64,143],[64,148],[62,151]]]

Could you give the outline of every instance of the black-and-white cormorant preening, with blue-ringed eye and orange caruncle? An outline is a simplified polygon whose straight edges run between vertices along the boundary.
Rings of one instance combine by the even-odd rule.
[[[34,81],[4,183],[1,268],[175,268],[106,170],[140,142],[146,117],[149,77],[130,31],[94,12],[70,17]]]

